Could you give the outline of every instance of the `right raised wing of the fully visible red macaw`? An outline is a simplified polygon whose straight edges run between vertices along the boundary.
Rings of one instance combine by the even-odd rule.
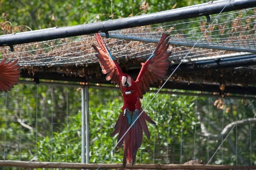
[[[158,80],[163,80],[167,73],[170,64],[167,58],[172,53],[166,53],[170,44],[168,43],[169,39],[170,35],[163,33],[152,55],[145,63],[141,63],[142,67],[136,80],[141,99],[148,90],[149,85]]]

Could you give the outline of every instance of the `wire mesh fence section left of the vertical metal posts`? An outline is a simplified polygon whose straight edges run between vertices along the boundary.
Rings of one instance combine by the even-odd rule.
[[[80,141],[77,131],[69,129],[72,123],[81,122],[76,118],[81,97],[74,90],[22,84],[1,92],[1,159],[68,161],[70,153],[81,152],[69,145],[74,136]]]

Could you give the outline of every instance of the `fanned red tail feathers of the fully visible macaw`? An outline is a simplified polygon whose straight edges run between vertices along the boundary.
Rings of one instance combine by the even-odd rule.
[[[121,149],[124,143],[123,168],[125,168],[126,164],[130,164],[130,163],[132,163],[132,165],[135,164],[136,153],[142,143],[142,137],[143,137],[142,130],[144,131],[147,138],[150,139],[150,134],[149,134],[146,121],[154,125],[156,124],[154,121],[152,121],[149,118],[149,116],[144,111],[142,112],[141,116],[137,119],[137,121],[133,124],[133,122],[141,112],[142,112],[142,109],[135,112],[123,111],[120,114],[119,118],[117,119],[117,122],[114,127],[114,131],[110,135],[112,137],[119,132],[118,138],[117,138],[118,151]],[[130,115],[127,116],[128,114]],[[131,125],[132,127],[128,130],[128,128]],[[127,130],[128,132],[125,134]]]

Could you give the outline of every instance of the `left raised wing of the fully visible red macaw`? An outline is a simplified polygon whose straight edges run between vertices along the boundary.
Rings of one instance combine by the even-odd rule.
[[[99,33],[94,34],[96,41],[98,42],[99,47],[92,45],[93,48],[98,52],[96,57],[100,63],[100,67],[102,68],[102,73],[107,74],[106,80],[111,80],[112,83],[117,83],[120,85],[121,75],[123,74],[121,68],[111,55],[107,45],[101,38]]]

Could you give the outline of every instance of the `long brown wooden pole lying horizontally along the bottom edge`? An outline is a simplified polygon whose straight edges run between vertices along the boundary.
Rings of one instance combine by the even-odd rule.
[[[70,168],[70,169],[122,169],[122,164],[82,164],[68,162],[28,162],[28,161],[0,161],[0,167],[21,168]],[[230,166],[230,165],[179,165],[179,164],[135,164],[127,169],[255,169],[254,166]]]

